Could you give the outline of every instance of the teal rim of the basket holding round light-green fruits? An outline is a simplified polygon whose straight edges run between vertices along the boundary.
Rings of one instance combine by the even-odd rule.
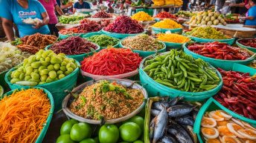
[[[68,58],[68,57],[67,57]],[[71,59],[71,58],[69,58]],[[37,86],[45,86],[45,85],[49,85],[49,84],[53,84],[53,83],[56,83],[56,82],[63,82],[63,80],[67,79],[69,76],[73,76],[75,73],[78,73],[79,72],[79,69],[80,69],[80,62],[78,62],[77,60],[74,59],[74,61],[76,61],[77,63],[77,68],[72,72],[70,73],[68,76],[65,76],[63,79],[59,79],[57,81],[54,81],[54,82],[49,82],[49,83],[45,83],[45,84],[37,84],[36,86],[34,87],[37,87]],[[22,62],[23,63],[23,62]],[[12,72],[13,70],[16,70],[18,67],[13,67],[11,68],[4,76],[4,81],[7,82],[7,84],[10,84],[10,85],[13,85],[12,83],[10,83],[10,80],[9,80],[9,76],[10,76],[10,72]],[[10,86],[9,85],[9,86]],[[22,87],[30,87],[30,86],[24,86],[24,85],[20,85],[20,84],[16,84],[16,85],[19,85],[19,86],[22,86]]]

